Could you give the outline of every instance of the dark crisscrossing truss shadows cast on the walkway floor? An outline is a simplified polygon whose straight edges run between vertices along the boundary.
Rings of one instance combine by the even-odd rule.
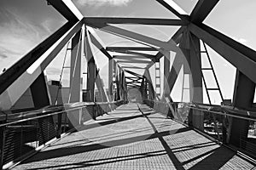
[[[148,127],[142,127],[142,128],[135,128],[132,129],[131,131],[125,131],[121,133],[111,133],[111,134],[104,134],[102,136],[96,137],[96,138],[101,138],[101,139],[112,139],[116,137],[120,137],[121,139],[116,139],[116,140],[111,140],[108,142],[102,142],[102,143],[92,143],[90,144],[90,141],[88,139],[79,139],[79,140],[74,140],[74,142],[81,142],[79,144],[72,144],[72,142],[67,142],[70,143],[70,146],[68,147],[59,147],[61,148],[56,148],[56,149],[51,149],[49,150],[43,150],[39,152],[37,155],[32,156],[30,159],[24,161],[23,163],[35,163],[35,161],[47,161],[49,159],[54,159],[54,158],[59,158],[61,156],[73,156],[76,154],[80,153],[86,153],[90,151],[95,151],[95,150],[105,150],[108,148],[113,148],[115,146],[120,146],[124,144],[132,144],[135,142],[140,142],[148,139],[159,139],[160,144],[162,147],[160,147],[159,150],[154,150],[154,151],[142,151],[136,154],[131,154],[131,155],[114,155],[114,156],[108,156],[108,157],[95,157],[90,160],[86,161],[79,161],[79,162],[70,162],[62,165],[52,165],[48,164],[46,167],[35,167],[35,168],[30,168],[33,170],[39,170],[39,169],[48,169],[48,168],[56,168],[56,169],[75,169],[75,168],[83,168],[83,167],[93,167],[93,166],[98,166],[102,164],[109,164],[109,163],[114,163],[114,162],[119,162],[119,161],[131,161],[131,160],[136,160],[139,161],[140,159],[147,158],[147,157],[154,157],[154,156],[168,156],[170,161],[173,163],[173,166],[178,169],[178,170],[183,170],[185,167],[190,165],[190,169],[219,169],[220,167],[223,167],[228,161],[230,161],[233,156],[236,155],[235,152],[228,150],[224,146],[219,146],[218,148],[211,148],[213,145],[217,145],[216,143],[212,141],[207,141],[204,140],[205,142],[201,144],[193,144],[193,145],[183,145],[181,147],[176,147],[176,148],[170,148],[170,141],[166,140],[164,137],[170,136],[173,134],[177,133],[184,133],[192,131],[189,127],[182,127],[178,129],[172,129],[166,130],[163,132],[159,132],[158,128],[159,126],[165,127],[167,126],[166,124],[163,124],[163,122],[152,122],[154,120],[154,116],[150,117],[149,115],[155,114],[154,111],[150,112],[147,107],[140,107],[139,105],[137,106],[138,110],[133,109],[134,111],[140,111],[140,114],[137,114],[135,116],[125,116],[125,117],[119,117],[114,120],[105,120],[105,122],[97,122],[93,123],[90,125],[85,125],[82,129],[80,130],[86,130],[89,128],[93,127],[99,127],[99,126],[104,126],[108,124],[113,124],[115,122],[124,122],[128,120],[132,120],[138,117],[144,117],[147,119],[148,123],[150,126]],[[145,109],[145,111],[144,111]],[[119,109],[119,111],[122,111],[122,108]],[[149,111],[149,112],[146,112]],[[146,113],[145,113],[146,112]],[[118,112],[117,112],[118,114]],[[158,117],[158,116],[157,116]],[[161,118],[161,117],[159,117]],[[165,123],[170,123],[171,122],[165,122]],[[177,123],[177,122],[175,122]],[[100,124],[100,125],[99,125]],[[169,125],[170,126],[170,125]],[[139,135],[136,137],[130,137],[130,138],[125,138],[125,135],[129,135],[132,133],[138,133],[138,132],[148,132],[148,130],[152,130],[154,133],[152,134],[143,134]],[[183,136],[182,138],[186,138],[186,136]],[[83,142],[84,141],[84,142]],[[185,141],[185,140],[184,140]],[[207,142],[206,142],[207,141]],[[65,143],[65,144],[67,144]],[[58,144],[54,144],[56,146]],[[177,157],[177,154],[179,152],[186,152],[186,151],[192,151],[195,149],[200,149],[200,148],[208,148],[206,151],[202,151],[200,155],[197,156],[190,156],[187,157],[186,161],[180,161],[181,159]],[[103,152],[102,152],[103,153]],[[168,160],[167,157],[167,160]],[[203,159],[202,159],[203,158]],[[153,158],[154,159],[154,158]],[[201,159],[201,161],[199,161]],[[54,161],[54,160],[53,160]],[[195,163],[195,161],[198,161]],[[210,165],[210,166],[209,166]],[[171,167],[170,167],[171,168]]]

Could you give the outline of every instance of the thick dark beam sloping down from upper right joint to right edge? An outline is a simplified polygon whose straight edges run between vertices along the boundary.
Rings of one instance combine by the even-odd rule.
[[[256,52],[206,25],[189,25],[189,31],[206,42],[244,75],[256,83]]]

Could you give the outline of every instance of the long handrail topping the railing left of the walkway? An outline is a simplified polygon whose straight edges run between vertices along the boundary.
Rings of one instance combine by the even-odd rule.
[[[54,115],[58,115],[62,112],[66,112],[66,111],[74,111],[77,109],[83,109],[85,107],[88,107],[90,105],[111,105],[111,104],[116,104],[121,102],[122,100],[119,101],[113,101],[113,102],[78,102],[78,103],[72,103],[72,104],[66,104],[66,105],[57,105],[57,106],[48,106],[46,108],[42,108],[36,111],[29,111],[29,112],[20,112],[20,113],[15,113],[16,118],[19,118],[19,116],[22,117],[21,120],[18,121],[14,121],[14,122],[5,122],[0,124],[0,127],[4,127],[4,126],[9,126],[11,124],[15,124],[15,123],[20,123],[20,122],[26,122],[26,121],[32,121],[34,119],[38,119],[38,118],[42,118],[42,117],[46,117],[46,116],[54,116]],[[62,111],[61,111],[62,110]],[[39,115],[38,114],[44,114],[50,112],[49,114],[46,115]],[[28,118],[24,118],[24,116],[22,114],[27,114],[25,116],[32,116],[32,117],[28,117]],[[36,115],[36,116],[34,116]],[[6,115],[4,115],[6,116]]]

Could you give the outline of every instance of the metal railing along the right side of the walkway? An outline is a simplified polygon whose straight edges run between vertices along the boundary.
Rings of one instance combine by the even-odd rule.
[[[154,111],[159,111],[178,122],[183,122],[189,127],[196,128],[207,133],[222,144],[230,144],[231,118],[241,119],[248,122],[248,135],[239,132],[240,144],[236,150],[240,150],[248,156],[256,158],[256,112],[242,111],[228,105],[204,105],[196,103],[174,102],[166,103],[154,100],[144,100],[144,103]],[[201,114],[203,116],[203,127],[195,127],[189,116]]]

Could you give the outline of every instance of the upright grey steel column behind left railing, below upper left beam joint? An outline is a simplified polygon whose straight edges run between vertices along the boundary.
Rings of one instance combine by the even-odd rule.
[[[70,61],[70,91],[68,103],[82,101],[82,75],[81,75],[81,31],[78,31],[72,39],[72,52]],[[82,111],[69,111],[69,127],[77,127],[81,124]]]

